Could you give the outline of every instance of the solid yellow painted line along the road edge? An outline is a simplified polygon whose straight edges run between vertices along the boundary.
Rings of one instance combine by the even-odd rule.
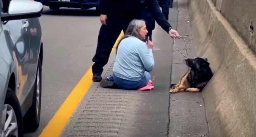
[[[111,53],[116,51],[116,45],[123,36],[123,31],[120,33],[115,45],[113,46]],[[76,87],[71,91],[64,103],[59,107],[59,110],[55,113],[47,126],[43,129],[39,137],[59,137],[64,130],[69,119],[76,111],[79,103],[86,95],[90,87],[92,86],[92,67],[83,75]]]

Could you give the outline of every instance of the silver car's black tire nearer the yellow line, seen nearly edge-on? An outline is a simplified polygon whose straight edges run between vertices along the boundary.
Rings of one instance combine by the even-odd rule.
[[[24,120],[24,132],[34,132],[37,130],[40,123],[41,112],[41,95],[42,95],[42,64],[38,59],[38,68],[36,73],[36,81],[34,85],[34,93],[32,106],[26,112]]]

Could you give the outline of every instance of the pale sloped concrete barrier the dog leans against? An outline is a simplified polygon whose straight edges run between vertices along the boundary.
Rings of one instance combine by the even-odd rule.
[[[256,137],[255,54],[213,1],[187,5],[197,55],[207,57],[214,72],[202,91],[211,137]]]

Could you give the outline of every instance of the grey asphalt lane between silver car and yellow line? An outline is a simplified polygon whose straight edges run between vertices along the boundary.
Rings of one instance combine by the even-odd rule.
[[[100,20],[95,9],[44,7],[42,108],[40,126],[25,137],[38,137],[84,73],[92,65]]]

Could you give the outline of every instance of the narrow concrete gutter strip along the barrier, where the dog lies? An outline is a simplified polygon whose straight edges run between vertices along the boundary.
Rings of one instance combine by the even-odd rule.
[[[178,49],[188,58],[196,57],[193,34],[190,26],[190,18],[187,10],[187,0],[177,0],[173,3],[173,11],[178,9],[178,27],[180,36],[185,38],[175,40]],[[171,12],[171,16],[176,14]],[[174,18],[172,18],[174,19]],[[180,78],[188,71],[185,64],[185,57],[178,52],[173,45],[173,61],[171,69],[171,83],[179,82]],[[206,123],[204,99],[200,93],[180,92],[170,94],[170,126],[169,137],[209,137],[208,126]]]

